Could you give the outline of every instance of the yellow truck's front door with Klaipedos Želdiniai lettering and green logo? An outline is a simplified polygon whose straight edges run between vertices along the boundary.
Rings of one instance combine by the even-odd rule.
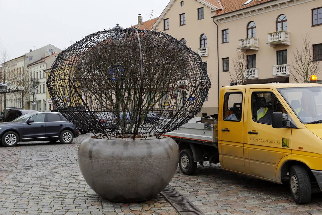
[[[250,89],[244,144],[247,173],[270,180],[276,180],[279,161],[291,154],[291,128],[272,127],[272,112],[280,111],[284,119],[292,118],[277,96],[272,90]]]

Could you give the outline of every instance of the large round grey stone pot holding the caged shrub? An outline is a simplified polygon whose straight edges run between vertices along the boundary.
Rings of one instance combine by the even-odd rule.
[[[85,181],[114,202],[155,197],[169,184],[178,166],[179,147],[169,138],[84,140],[78,163]]]

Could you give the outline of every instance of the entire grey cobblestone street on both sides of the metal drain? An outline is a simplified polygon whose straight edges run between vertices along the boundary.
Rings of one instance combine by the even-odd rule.
[[[100,198],[83,180],[77,148],[72,144],[20,142],[0,147],[0,214],[154,214],[177,211],[161,196],[122,204]],[[170,185],[208,214],[322,214],[322,194],[307,205],[297,205],[288,185],[226,172],[219,165],[203,166],[193,176],[177,170]]]

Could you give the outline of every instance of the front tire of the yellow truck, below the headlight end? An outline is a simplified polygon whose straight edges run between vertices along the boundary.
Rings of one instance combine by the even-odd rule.
[[[289,189],[298,204],[306,204],[311,200],[311,181],[308,171],[303,166],[292,166],[289,170]]]

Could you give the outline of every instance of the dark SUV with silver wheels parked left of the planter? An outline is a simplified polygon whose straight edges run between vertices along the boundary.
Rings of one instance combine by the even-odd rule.
[[[19,141],[71,143],[78,136],[76,126],[56,112],[31,112],[12,122],[0,123],[1,143],[7,147],[17,145]]]

